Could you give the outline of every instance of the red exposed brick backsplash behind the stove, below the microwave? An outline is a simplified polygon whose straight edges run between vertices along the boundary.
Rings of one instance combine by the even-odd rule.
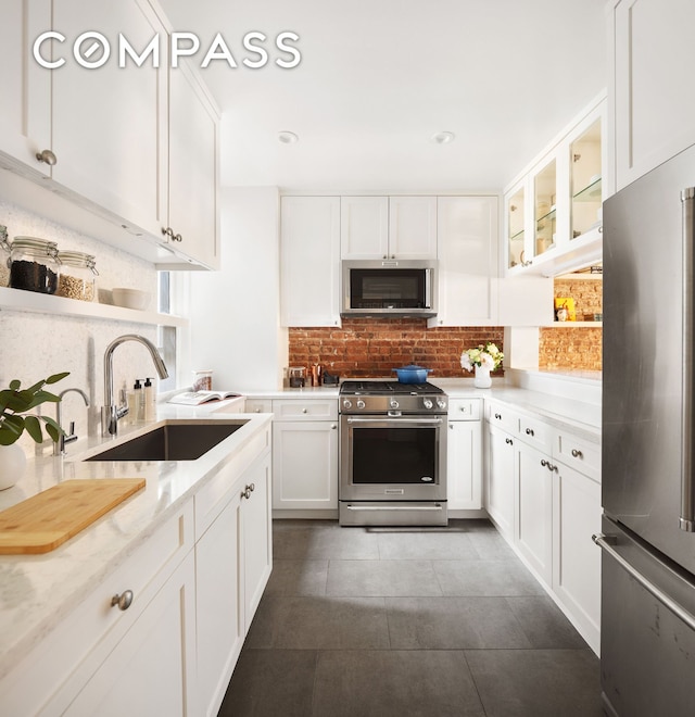
[[[472,376],[460,367],[462,352],[485,341],[504,351],[503,337],[502,327],[428,329],[425,318],[344,318],[342,328],[290,328],[288,365],[317,363],[341,378],[383,378],[417,364],[431,368],[433,378],[462,378]]]

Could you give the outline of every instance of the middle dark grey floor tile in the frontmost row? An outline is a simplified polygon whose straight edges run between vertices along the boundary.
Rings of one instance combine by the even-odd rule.
[[[463,652],[320,652],[315,717],[483,717]]]

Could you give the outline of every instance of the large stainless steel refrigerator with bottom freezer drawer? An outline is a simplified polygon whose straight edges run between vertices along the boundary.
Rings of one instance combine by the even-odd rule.
[[[695,715],[695,146],[604,203],[605,710]]]

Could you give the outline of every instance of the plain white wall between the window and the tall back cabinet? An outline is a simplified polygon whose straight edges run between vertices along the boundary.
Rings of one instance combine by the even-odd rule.
[[[228,188],[219,202],[220,271],[173,277],[173,313],[191,319],[181,377],[186,383],[190,372],[212,368],[216,389],[280,387],[288,348],[279,322],[279,192]]]

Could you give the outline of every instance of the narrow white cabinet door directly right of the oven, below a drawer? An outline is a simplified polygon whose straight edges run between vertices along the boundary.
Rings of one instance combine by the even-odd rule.
[[[479,420],[452,420],[446,448],[446,495],[452,511],[482,507],[482,435]]]

